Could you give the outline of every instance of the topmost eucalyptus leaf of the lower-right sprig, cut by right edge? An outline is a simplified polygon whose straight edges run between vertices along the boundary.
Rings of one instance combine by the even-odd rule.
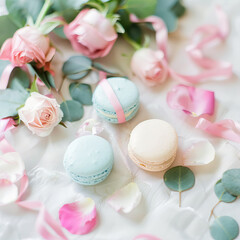
[[[229,193],[234,196],[240,196],[240,168],[224,172],[222,184]]]

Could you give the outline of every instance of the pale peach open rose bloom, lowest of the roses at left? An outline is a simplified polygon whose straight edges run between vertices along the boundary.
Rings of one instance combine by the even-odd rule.
[[[28,129],[40,137],[48,136],[63,117],[56,99],[36,92],[31,94],[18,114]]]

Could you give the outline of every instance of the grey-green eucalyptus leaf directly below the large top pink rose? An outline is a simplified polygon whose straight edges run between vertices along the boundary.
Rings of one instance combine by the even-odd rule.
[[[92,69],[92,60],[85,56],[72,56],[64,64],[62,71],[68,79],[79,80]]]

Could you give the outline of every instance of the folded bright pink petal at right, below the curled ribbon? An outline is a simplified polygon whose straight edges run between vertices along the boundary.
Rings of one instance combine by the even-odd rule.
[[[195,87],[177,85],[167,95],[167,103],[193,117],[214,113],[214,92]]]

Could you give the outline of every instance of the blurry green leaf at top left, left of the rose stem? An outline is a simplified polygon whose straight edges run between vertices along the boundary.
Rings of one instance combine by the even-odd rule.
[[[36,21],[43,4],[44,0],[6,0],[9,15],[19,28],[26,24],[28,16]]]

